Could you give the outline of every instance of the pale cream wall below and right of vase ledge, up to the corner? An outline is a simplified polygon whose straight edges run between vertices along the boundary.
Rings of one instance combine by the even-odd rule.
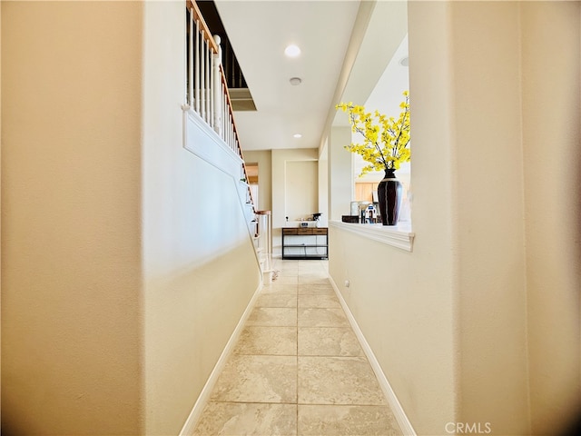
[[[444,61],[449,51],[448,10],[441,2],[429,7],[411,4],[409,17],[410,95],[415,108],[413,228],[418,235],[414,251],[331,227],[330,275],[414,429],[422,435],[445,434],[444,426],[456,419],[458,408],[454,177],[449,132],[441,128],[450,123],[450,114],[431,108],[448,105],[441,85],[451,80]],[[426,28],[428,38],[423,37]],[[429,74],[414,76],[424,71]]]

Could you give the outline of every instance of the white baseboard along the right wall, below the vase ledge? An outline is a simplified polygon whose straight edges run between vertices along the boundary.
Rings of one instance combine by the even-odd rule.
[[[343,299],[343,295],[341,295],[341,292],[337,287],[337,283],[335,283],[330,276],[329,281],[332,284],[335,293],[337,294],[337,298],[339,298],[339,301],[341,303],[341,306],[343,307],[343,310],[345,311],[345,314],[347,315],[347,318],[349,319],[351,327],[353,328],[353,332],[355,332],[357,339],[359,339],[359,342],[361,343],[361,348],[363,348],[363,352],[365,352],[365,355],[367,356],[367,359],[369,361],[369,364],[371,365],[371,368],[373,369],[373,372],[375,372],[375,375],[378,378],[381,391],[383,391],[384,395],[386,396],[386,399],[388,400],[389,403],[389,407],[391,408],[391,411],[393,411],[393,414],[396,418],[396,421],[398,421],[401,431],[403,432],[403,434],[408,436],[417,436],[416,431],[411,426],[411,422],[409,422],[406,412],[403,411],[403,408],[401,407],[401,403],[399,402],[396,393],[393,391],[393,389],[391,389],[391,385],[389,384],[387,377],[383,373],[383,370],[381,370],[381,366],[379,366],[379,362],[375,357],[375,354],[371,350],[371,347],[369,346],[369,343],[365,339],[363,332],[361,332],[361,329],[359,329],[359,324],[355,321],[355,318],[353,317],[353,314],[351,313],[349,306],[347,305],[347,302],[345,302],[345,300]]]

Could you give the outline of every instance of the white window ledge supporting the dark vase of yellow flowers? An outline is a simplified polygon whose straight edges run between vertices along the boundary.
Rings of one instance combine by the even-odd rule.
[[[356,233],[364,238],[385,243],[407,252],[413,251],[414,236],[416,233],[411,232],[410,223],[399,223],[398,225],[388,226],[382,224],[355,224],[330,221],[329,226],[346,232]]]

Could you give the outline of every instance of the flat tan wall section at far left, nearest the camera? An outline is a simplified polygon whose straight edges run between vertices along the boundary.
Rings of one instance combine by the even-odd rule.
[[[143,6],[1,7],[2,430],[138,434]]]

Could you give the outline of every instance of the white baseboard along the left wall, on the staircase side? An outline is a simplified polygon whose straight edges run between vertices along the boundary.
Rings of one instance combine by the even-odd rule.
[[[226,346],[224,347],[224,350],[220,355],[220,359],[218,359],[218,362],[216,362],[216,365],[214,366],[214,369],[212,370],[210,377],[208,377],[206,384],[204,384],[203,386],[202,392],[200,392],[198,400],[193,405],[192,411],[190,412],[188,419],[183,424],[182,431],[180,431],[179,436],[191,436],[193,434],[193,431],[196,428],[196,424],[198,423],[200,417],[202,416],[202,411],[204,407],[206,407],[208,401],[210,400],[212,389],[214,388],[216,381],[218,381],[218,377],[220,376],[224,368],[224,365],[226,364],[226,362],[228,362],[228,358],[230,357],[231,352],[234,349],[234,346],[236,345],[236,342],[238,342],[238,339],[240,338],[242,329],[244,328],[244,324],[246,323],[248,317],[251,314],[251,311],[254,307],[254,302],[256,302],[256,299],[258,298],[258,294],[259,292],[261,292],[261,289],[262,282],[259,284],[258,288],[256,288],[254,295],[252,295],[251,301],[246,306],[246,310],[244,311],[244,313],[242,313],[240,321],[236,325],[234,332],[232,332],[230,339],[226,343]]]

